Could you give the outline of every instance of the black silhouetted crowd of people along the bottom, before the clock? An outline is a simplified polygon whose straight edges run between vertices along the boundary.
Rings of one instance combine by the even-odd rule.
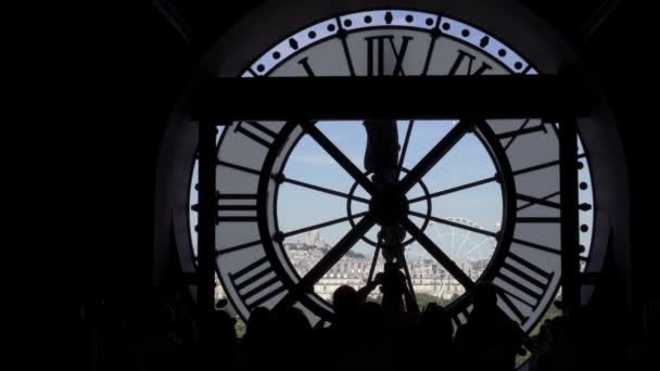
[[[588,312],[547,320],[537,335],[528,337],[498,308],[497,289],[478,283],[469,321],[455,330],[448,311],[435,303],[407,310],[404,280],[401,271],[391,269],[358,291],[339,287],[327,328],[313,329],[295,307],[259,307],[244,336],[237,338],[237,320],[218,310],[205,324],[212,336],[204,344],[190,314],[172,303],[156,303],[145,310],[134,369],[497,371],[516,369],[517,355],[530,353],[529,370],[658,370],[657,303],[645,310],[644,341],[631,346],[622,363],[614,360],[611,344],[599,341],[607,338],[607,327]],[[382,304],[367,300],[378,286]],[[96,370],[113,369],[94,364]]]

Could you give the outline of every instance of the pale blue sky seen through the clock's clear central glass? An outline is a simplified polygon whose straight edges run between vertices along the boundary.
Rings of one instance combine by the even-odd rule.
[[[408,120],[397,121],[399,143],[403,146]],[[415,121],[404,167],[412,168],[455,125],[455,121],[434,120]],[[337,145],[360,170],[364,169],[366,131],[361,121],[321,121],[317,127]],[[219,133],[218,133],[219,136]],[[219,138],[219,137],[218,137]],[[399,153],[401,155],[401,153]],[[348,193],[353,179],[330,157],[310,137],[303,137],[293,149],[283,169],[288,178],[305,181],[343,193]],[[492,177],[495,166],[481,141],[472,133],[464,137],[428,174],[422,178],[429,192],[433,193],[447,188]],[[196,183],[196,165],[193,171],[193,184]],[[367,197],[367,193],[357,187],[355,194]],[[417,184],[408,193],[408,199],[423,195]],[[191,194],[191,204],[196,203],[196,192]],[[304,228],[310,225],[345,217],[346,200],[320,193],[299,186],[283,183],[278,194],[278,220],[283,232]],[[472,226],[497,231],[502,221],[502,193],[497,183],[492,182],[473,189],[435,197],[431,204],[432,215],[439,218],[461,218]],[[410,209],[426,214],[428,204],[418,202]],[[353,214],[367,210],[367,205],[354,202]],[[411,217],[422,227],[422,219]],[[358,222],[359,218],[355,219]],[[196,223],[196,213],[191,213],[191,226]],[[320,229],[321,238],[334,245],[351,225],[342,222]],[[379,227],[373,227],[367,236],[376,240]],[[493,240],[469,231],[430,223],[427,234],[453,258],[487,258],[493,251]],[[293,235],[285,242],[304,241],[305,234]],[[354,252],[371,255],[373,247],[358,242]],[[407,255],[418,258],[430,256],[417,243],[409,245]]]

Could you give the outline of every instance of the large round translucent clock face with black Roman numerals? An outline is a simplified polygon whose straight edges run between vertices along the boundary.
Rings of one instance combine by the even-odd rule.
[[[375,10],[282,36],[241,76],[496,74],[536,69],[506,40],[449,16]],[[391,220],[407,231],[404,257],[416,294],[446,304],[456,325],[467,321],[466,294],[480,280],[499,287],[498,306],[524,331],[544,315],[561,276],[557,125],[531,118],[398,120],[396,127],[398,179],[406,187],[388,193],[388,202],[364,166],[361,121],[219,127],[217,274],[244,319],[259,306],[293,305],[313,325],[329,323],[332,292],[364,286],[382,270],[378,232]],[[594,201],[578,140],[584,268]],[[439,154],[439,145],[447,151]],[[195,183],[196,165],[193,250]],[[385,204],[399,205],[389,220]]]

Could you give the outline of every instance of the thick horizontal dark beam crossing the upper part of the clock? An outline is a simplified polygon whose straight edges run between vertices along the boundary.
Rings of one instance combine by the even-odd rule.
[[[202,80],[193,117],[217,121],[585,116],[588,94],[558,76],[277,77]]]

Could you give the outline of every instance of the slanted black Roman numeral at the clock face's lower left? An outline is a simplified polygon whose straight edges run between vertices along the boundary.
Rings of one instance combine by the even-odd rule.
[[[271,273],[271,278],[254,287],[251,286]],[[280,282],[266,257],[256,260],[236,273],[229,273],[229,280],[250,311],[284,291],[284,285]]]

